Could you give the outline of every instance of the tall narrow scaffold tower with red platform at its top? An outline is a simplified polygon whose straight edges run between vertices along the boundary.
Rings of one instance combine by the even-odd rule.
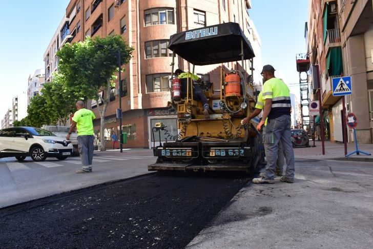
[[[309,117],[309,56],[308,54],[297,54],[297,71],[299,72],[299,89],[300,89],[300,113],[302,118],[302,128],[309,131],[310,117]]]

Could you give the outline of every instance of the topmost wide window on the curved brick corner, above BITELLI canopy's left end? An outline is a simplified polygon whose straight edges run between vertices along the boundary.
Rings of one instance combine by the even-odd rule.
[[[175,24],[174,10],[168,8],[150,9],[144,12],[145,26],[158,24]]]

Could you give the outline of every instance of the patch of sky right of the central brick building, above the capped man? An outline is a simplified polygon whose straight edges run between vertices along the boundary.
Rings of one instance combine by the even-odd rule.
[[[263,65],[272,65],[275,76],[286,82],[298,100],[299,73],[295,56],[307,52],[304,25],[308,5],[309,0],[252,0],[252,9],[248,11],[261,39]]]

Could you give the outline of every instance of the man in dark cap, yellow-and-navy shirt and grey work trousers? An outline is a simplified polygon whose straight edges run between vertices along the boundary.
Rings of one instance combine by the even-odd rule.
[[[263,93],[265,101],[262,120],[257,129],[261,130],[267,118],[265,127],[265,156],[267,165],[265,173],[259,178],[254,178],[254,183],[274,183],[275,165],[277,161],[278,144],[281,141],[286,159],[285,176],[280,181],[294,182],[294,151],[291,141],[291,100],[290,91],[286,84],[275,77],[275,69],[271,65],[265,65],[261,72],[263,76]]]

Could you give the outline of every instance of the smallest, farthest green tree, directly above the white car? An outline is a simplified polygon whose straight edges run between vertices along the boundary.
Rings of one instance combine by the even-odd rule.
[[[27,107],[28,126],[42,127],[44,124],[56,124],[51,120],[51,110],[48,109],[47,100],[44,95],[36,95]]]

